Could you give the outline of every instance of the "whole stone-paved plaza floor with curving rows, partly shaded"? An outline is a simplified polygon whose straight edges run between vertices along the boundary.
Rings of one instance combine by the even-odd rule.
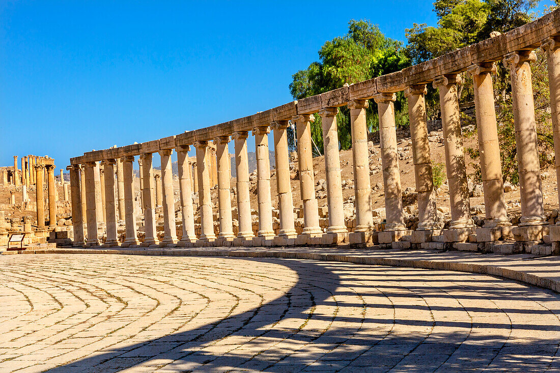
[[[45,254],[0,283],[0,371],[560,369],[560,296],[481,274]]]

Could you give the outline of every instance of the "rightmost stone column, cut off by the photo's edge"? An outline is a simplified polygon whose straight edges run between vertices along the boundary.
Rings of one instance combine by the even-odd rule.
[[[554,138],[554,168],[558,201],[560,201],[560,43],[558,36],[550,36],[543,41],[541,48],[547,52],[548,85],[550,87],[550,111],[552,116],[552,135]]]

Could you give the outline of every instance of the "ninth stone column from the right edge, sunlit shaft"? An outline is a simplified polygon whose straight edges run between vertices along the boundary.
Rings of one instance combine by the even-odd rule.
[[[314,120],[315,117],[309,114],[297,115],[292,118],[292,122],[296,122],[297,164],[300,171],[301,201],[304,205],[304,229],[302,234],[308,237],[321,237],[323,231],[319,226],[319,208],[315,198],[315,176],[313,174],[313,153],[311,150],[310,122]],[[312,242],[309,239],[305,241],[304,238],[300,243],[321,242]]]

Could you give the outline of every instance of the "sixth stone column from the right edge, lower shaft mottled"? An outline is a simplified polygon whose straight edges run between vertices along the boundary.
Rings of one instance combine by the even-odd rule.
[[[393,93],[381,93],[374,97],[379,111],[381,166],[385,188],[385,215],[387,217],[386,231],[406,229],[400,189],[399,157],[396,148],[395,99]]]

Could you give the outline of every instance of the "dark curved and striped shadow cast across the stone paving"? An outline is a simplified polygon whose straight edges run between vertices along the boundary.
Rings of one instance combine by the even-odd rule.
[[[256,307],[254,310],[230,316],[217,323],[187,332],[165,335],[152,341],[131,344],[126,348],[107,348],[107,351],[95,353],[91,357],[77,360],[67,365],[57,367],[49,372],[116,372],[138,367],[138,371],[161,372],[170,371],[269,371],[269,372],[296,372],[296,371],[321,371],[321,372],[384,372],[389,370],[426,372],[426,371],[482,371],[492,364],[492,370],[540,372],[544,369],[560,369],[557,361],[552,362],[552,357],[558,354],[558,342],[543,339],[526,338],[522,343],[507,341],[507,335],[512,325],[506,323],[479,323],[473,325],[468,321],[427,321],[418,319],[399,319],[375,317],[360,319],[357,317],[342,317],[343,320],[353,323],[379,324],[380,333],[358,335],[356,329],[349,332],[346,328],[329,328],[326,330],[274,329],[274,324],[281,319],[297,319],[298,323],[305,323],[310,319],[310,310],[321,305],[334,307],[363,307],[363,304],[343,303],[335,304],[332,296],[345,295],[341,286],[340,267],[336,271],[330,269],[326,263],[317,264],[311,261],[274,260],[274,259],[249,259],[260,262],[274,262],[293,269],[298,274],[298,282],[285,295],[278,299]],[[304,265],[305,264],[305,265]],[[358,269],[354,265],[354,269]],[[372,271],[374,267],[367,267]],[[379,267],[384,272],[391,271],[391,267]],[[399,268],[395,271],[407,271]],[[413,276],[411,273],[405,276]],[[338,273],[337,273],[338,272]],[[401,273],[402,274],[402,273]],[[437,273],[433,281],[445,281]],[[429,276],[426,271],[423,276]],[[461,273],[457,272],[455,279]],[[464,273],[464,276],[470,274]],[[344,277],[344,281],[363,282],[362,278]],[[423,278],[422,282],[431,281]],[[498,280],[499,281],[499,280]],[[360,288],[360,283],[353,283],[353,288]],[[363,286],[363,285],[362,285]],[[397,293],[396,286],[376,286],[387,297],[402,297]],[[441,287],[440,287],[441,288]],[[459,285],[449,283],[444,290],[458,290]],[[338,289],[338,291],[337,291]],[[502,297],[496,288],[482,287],[484,296],[464,295],[461,299],[483,299],[484,297]],[[530,292],[528,288],[527,292]],[[415,294],[430,292],[430,287],[414,286]],[[478,290],[478,288],[477,288]],[[494,290],[494,293],[491,293]],[[540,289],[539,289],[540,290]],[[550,292],[550,295],[557,296]],[[430,292],[430,297],[437,297]],[[444,297],[444,295],[439,295]],[[506,295],[503,295],[506,297]],[[512,300],[511,297],[508,298]],[[560,299],[560,297],[559,297]],[[515,300],[515,298],[513,299]],[[368,307],[375,309],[412,309],[418,311],[454,311],[463,310],[462,306],[438,307],[427,305],[398,305],[374,304]],[[484,307],[469,307],[471,312],[496,312],[496,309]],[[526,313],[522,309],[508,309],[508,313]],[[344,314],[344,313],[342,313]],[[313,320],[332,321],[335,315],[312,315]],[[340,316],[337,320],[340,319]],[[442,329],[449,329],[448,333],[418,333],[404,332],[399,329],[393,331],[395,325],[415,328],[433,328],[437,324]],[[473,328],[500,329],[503,335],[480,334],[480,337],[469,336]],[[522,328],[529,330],[558,330],[552,325],[524,324]],[[389,332],[387,332],[389,330]],[[426,341],[429,334],[430,341]],[[203,348],[223,338],[232,338],[240,341],[232,345],[231,351],[213,353],[204,351]],[[463,343],[469,338],[469,343]],[[506,343],[507,342],[507,343]],[[296,352],[296,353],[292,353]]]

